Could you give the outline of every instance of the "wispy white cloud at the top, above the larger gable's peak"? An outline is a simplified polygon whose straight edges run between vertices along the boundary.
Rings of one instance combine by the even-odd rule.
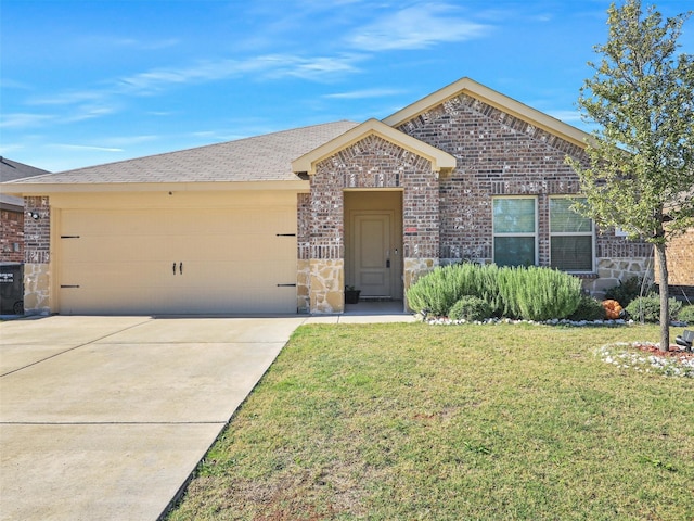
[[[406,8],[361,27],[348,42],[362,50],[426,49],[439,42],[481,38],[492,26],[455,16],[457,8],[424,3]]]

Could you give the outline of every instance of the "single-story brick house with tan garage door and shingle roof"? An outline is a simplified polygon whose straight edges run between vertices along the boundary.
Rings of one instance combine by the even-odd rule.
[[[594,292],[652,246],[574,214],[588,136],[463,78],[336,122],[18,181],[31,313],[342,313],[446,263],[553,266]],[[407,304],[406,304],[407,305]]]

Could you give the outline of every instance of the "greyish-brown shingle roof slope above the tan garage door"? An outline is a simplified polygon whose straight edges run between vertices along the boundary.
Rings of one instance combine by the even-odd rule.
[[[17,183],[292,181],[292,161],[356,127],[340,120],[136,160],[68,170]]]

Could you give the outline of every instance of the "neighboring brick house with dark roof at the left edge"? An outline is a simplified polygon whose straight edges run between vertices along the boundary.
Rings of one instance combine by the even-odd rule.
[[[0,156],[0,182],[41,176],[47,170]],[[0,190],[0,262],[24,262],[24,199]]]

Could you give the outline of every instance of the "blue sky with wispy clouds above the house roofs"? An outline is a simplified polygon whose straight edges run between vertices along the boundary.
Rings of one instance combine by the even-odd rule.
[[[463,76],[586,129],[609,3],[0,0],[0,155],[61,171],[383,118]]]

